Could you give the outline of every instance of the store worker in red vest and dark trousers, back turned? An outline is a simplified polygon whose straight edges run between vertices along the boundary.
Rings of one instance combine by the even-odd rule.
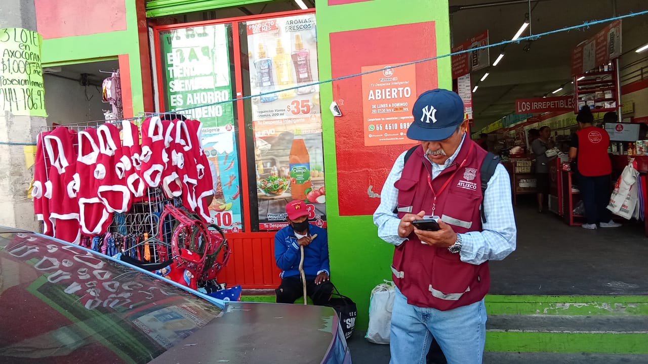
[[[572,137],[569,157],[576,160],[578,185],[585,207],[586,223],[583,227],[590,230],[599,226],[619,227],[621,224],[612,221],[607,209],[612,174],[612,163],[607,152],[610,137],[607,131],[594,126],[594,115],[588,106],[581,108],[576,121],[580,130]]]

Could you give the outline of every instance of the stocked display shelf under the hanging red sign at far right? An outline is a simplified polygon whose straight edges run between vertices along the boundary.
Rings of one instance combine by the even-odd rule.
[[[584,78],[582,80],[579,80],[579,78],[582,77]],[[576,113],[578,113],[578,110],[581,108],[581,106],[583,106],[583,102],[585,104],[587,104],[587,102],[594,102],[594,108],[592,109],[592,111],[595,111],[597,113],[618,111],[619,102],[621,102],[621,100],[618,99],[618,89],[621,86],[619,85],[616,71],[614,71],[613,69],[610,69],[609,71],[579,74],[574,77],[573,83],[576,94]],[[612,95],[603,95],[603,97],[599,95],[599,97],[592,97],[592,95],[596,95],[597,93],[605,93],[606,91],[611,91]],[[612,102],[614,102],[614,107],[612,108],[609,106],[606,108],[605,104],[601,105],[601,103]]]

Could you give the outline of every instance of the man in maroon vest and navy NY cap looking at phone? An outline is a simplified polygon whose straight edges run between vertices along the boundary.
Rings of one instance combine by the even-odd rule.
[[[421,146],[407,161],[406,153],[397,158],[373,215],[378,236],[396,245],[390,363],[424,363],[432,337],[448,363],[481,363],[488,260],[516,246],[509,175],[498,165],[482,196],[487,152],[466,137],[456,93],[426,91],[412,113],[407,136]],[[411,223],[432,216],[440,217],[437,231]]]

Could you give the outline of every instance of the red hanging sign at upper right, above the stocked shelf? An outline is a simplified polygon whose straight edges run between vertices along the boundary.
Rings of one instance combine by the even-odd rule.
[[[572,51],[572,76],[607,65],[621,56],[621,20],[612,21]]]

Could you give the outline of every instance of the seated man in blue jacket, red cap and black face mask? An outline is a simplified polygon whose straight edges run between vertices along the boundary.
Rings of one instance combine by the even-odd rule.
[[[329,280],[329,240],[326,230],[308,223],[308,209],[303,201],[286,205],[290,225],[275,234],[275,260],[282,270],[281,285],[275,290],[278,303],[294,303],[303,295],[299,261],[304,247],[306,291],[314,304],[329,303],[333,284]]]

